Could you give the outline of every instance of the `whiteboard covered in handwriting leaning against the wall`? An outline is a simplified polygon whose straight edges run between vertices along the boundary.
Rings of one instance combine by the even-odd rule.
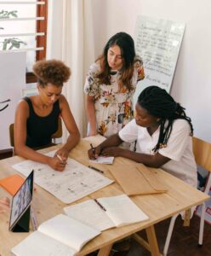
[[[147,86],[157,85],[169,92],[184,31],[184,23],[138,16],[134,43],[144,62],[145,79],[137,85],[134,104]]]

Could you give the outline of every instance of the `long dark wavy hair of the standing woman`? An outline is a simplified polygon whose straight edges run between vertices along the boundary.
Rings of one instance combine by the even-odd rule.
[[[97,78],[100,79],[101,84],[111,84],[111,68],[108,65],[107,53],[108,49],[113,45],[117,45],[121,49],[121,54],[123,55],[123,67],[119,82],[121,85],[125,85],[128,90],[131,90],[133,87],[131,79],[134,73],[135,49],[134,39],[126,32],[118,32],[108,40],[103,50],[103,54],[97,59],[97,61],[100,61],[101,67],[101,72],[98,74]]]

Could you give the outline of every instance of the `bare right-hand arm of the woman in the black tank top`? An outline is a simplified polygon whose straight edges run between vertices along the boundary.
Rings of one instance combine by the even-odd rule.
[[[77,129],[77,124],[73,115],[71,113],[71,109],[69,108],[69,104],[66,101],[65,96],[60,96],[60,111],[61,117],[66,125],[66,129],[69,132],[69,137],[67,138],[66,143],[60,150],[57,151],[56,154],[60,154],[60,156],[66,160],[69,152],[72,148],[74,148],[80,140],[80,133]]]

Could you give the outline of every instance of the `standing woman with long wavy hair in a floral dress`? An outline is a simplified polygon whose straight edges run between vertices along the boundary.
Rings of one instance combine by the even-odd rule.
[[[110,137],[134,118],[134,91],[144,77],[143,62],[135,55],[133,38],[125,32],[112,36],[103,54],[89,67],[84,86],[88,136],[100,133]]]

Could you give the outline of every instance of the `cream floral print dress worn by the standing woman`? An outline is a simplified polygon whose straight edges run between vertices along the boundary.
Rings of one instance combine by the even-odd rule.
[[[119,71],[111,72],[111,84],[100,84],[98,73],[100,63],[94,62],[89,67],[84,92],[88,96],[94,96],[97,131],[104,137],[110,137],[134,118],[133,96],[137,82],[145,77],[143,62],[139,56],[135,57],[132,90],[128,90],[126,86],[119,90]]]

